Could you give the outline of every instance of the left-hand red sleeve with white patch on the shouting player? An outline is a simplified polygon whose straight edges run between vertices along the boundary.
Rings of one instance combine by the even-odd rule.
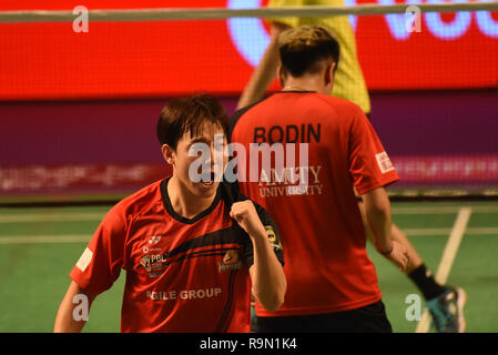
[[[110,288],[124,266],[125,235],[124,213],[114,206],[102,220],[70,277],[93,295]]]

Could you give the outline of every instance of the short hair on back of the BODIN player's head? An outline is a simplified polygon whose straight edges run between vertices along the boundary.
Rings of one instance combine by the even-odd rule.
[[[318,72],[324,59],[332,58],[335,69],[339,63],[339,43],[323,26],[302,26],[284,31],[278,39],[278,50],[284,73],[295,78]]]

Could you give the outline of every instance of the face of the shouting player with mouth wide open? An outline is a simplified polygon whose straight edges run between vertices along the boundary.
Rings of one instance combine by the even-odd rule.
[[[189,131],[180,139],[174,173],[191,194],[214,197],[228,160],[223,154],[226,136],[221,126],[209,122],[196,133],[191,135]]]

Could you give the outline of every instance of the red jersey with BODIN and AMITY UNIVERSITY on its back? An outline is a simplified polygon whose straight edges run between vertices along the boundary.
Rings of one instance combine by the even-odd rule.
[[[359,194],[398,180],[369,121],[348,101],[308,91],[277,92],[232,118],[231,141],[308,144],[307,186],[297,187],[288,166],[258,170],[258,182],[240,182],[241,191],[273,216],[281,233],[286,265],[284,305],[270,313],[256,304],[258,316],[333,313],[380,300],[374,264],[353,186]],[[286,150],[284,150],[286,152]],[[252,156],[251,156],[252,158]],[[262,158],[261,158],[262,159]],[[295,148],[296,165],[299,150]],[[263,159],[262,159],[263,160]],[[302,180],[304,181],[304,180]]]

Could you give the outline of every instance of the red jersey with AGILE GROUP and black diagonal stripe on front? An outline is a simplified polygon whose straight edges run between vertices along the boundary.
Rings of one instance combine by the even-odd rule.
[[[245,197],[222,183],[206,211],[185,219],[171,205],[167,181],[118,203],[70,276],[98,295],[126,271],[122,332],[248,332],[253,246],[228,215],[232,202]],[[276,232],[270,215],[256,211]]]

